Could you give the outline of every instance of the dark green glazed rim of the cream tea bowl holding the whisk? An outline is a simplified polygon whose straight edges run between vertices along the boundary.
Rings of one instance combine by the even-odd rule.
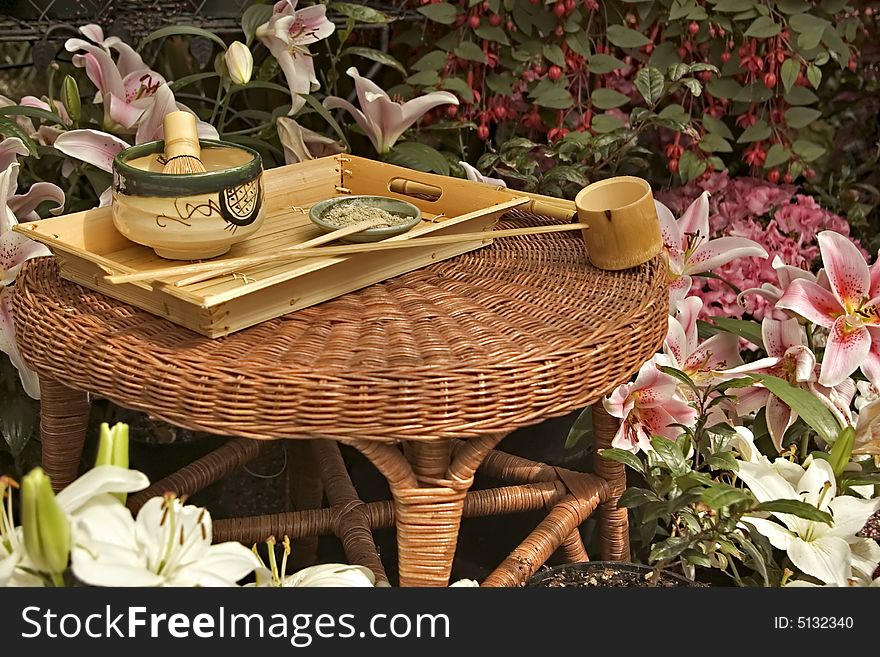
[[[205,173],[162,173],[131,166],[131,160],[165,150],[164,141],[151,141],[116,154],[113,158],[113,189],[130,196],[194,196],[238,187],[259,176],[263,170],[260,154],[247,146],[213,139],[200,139],[199,145],[203,149],[235,148],[250,154],[251,159],[238,166]]]

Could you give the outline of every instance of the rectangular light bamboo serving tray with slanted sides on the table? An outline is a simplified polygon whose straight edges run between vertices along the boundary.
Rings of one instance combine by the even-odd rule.
[[[503,214],[530,200],[520,192],[351,155],[269,169],[264,172],[263,184],[266,219],[262,227],[212,261],[271,254],[321,235],[321,230],[309,220],[308,210],[312,204],[335,196],[380,194],[418,206],[422,223],[403,235],[389,238],[395,241],[492,230]],[[410,189],[422,193],[405,193]],[[435,189],[437,194],[426,195],[425,189]],[[241,273],[176,287],[174,282],[184,276],[123,284],[104,279],[107,274],[133,274],[186,264],[160,258],[152,249],[123,237],[113,225],[109,207],[33,221],[16,226],[15,230],[46,244],[58,261],[62,277],[211,338],[491,243],[484,238],[396,251],[269,262]]]

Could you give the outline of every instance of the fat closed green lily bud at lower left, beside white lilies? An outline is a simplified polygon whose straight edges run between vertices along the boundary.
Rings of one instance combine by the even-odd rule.
[[[34,468],[22,481],[21,527],[25,549],[37,570],[61,584],[70,556],[70,521],[42,468]]]

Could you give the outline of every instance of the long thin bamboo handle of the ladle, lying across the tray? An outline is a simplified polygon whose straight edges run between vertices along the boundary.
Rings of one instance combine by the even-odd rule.
[[[559,233],[571,230],[583,230],[589,228],[587,224],[553,224],[550,226],[535,226],[532,228],[510,228],[507,230],[489,230],[478,233],[460,233],[458,235],[437,235],[435,237],[415,237],[409,240],[373,242],[369,244],[346,244],[343,246],[328,246],[323,249],[303,249],[299,245],[282,249],[271,255],[246,256],[241,258],[228,258],[214,262],[201,262],[192,265],[178,265],[176,267],[161,267],[159,269],[147,269],[131,274],[110,274],[104,277],[108,283],[121,284],[136,281],[158,280],[182,274],[195,274],[200,272],[217,271],[235,267],[242,269],[254,265],[262,265],[276,260],[294,260],[298,258],[316,258],[339,255],[351,255],[353,253],[366,253],[370,251],[390,251],[392,249],[407,249],[410,247],[435,246],[440,244],[455,244],[457,242],[472,242],[477,239],[491,240],[498,237],[519,237],[524,235],[541,235],[545,233]]]

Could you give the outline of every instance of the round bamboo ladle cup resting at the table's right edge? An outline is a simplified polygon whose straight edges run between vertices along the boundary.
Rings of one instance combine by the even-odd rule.
[[[584,187],[574,199],[590,262],[599,269],[627,269],[660,253],[663,240],[648,181],[618,176]]]

